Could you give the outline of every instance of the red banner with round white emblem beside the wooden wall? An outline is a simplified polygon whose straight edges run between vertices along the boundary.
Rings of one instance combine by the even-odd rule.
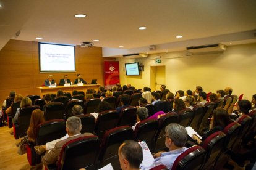
[[[119,62],[104,61],[104,81],[105,86],[111,86],[120,83],[119,80]]]

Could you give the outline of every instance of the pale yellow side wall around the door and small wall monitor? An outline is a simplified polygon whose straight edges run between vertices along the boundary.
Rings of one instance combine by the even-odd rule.
[[[161,57],[161,63],[155,59]],[[256,44],[228,46],[223,54],[186,56],[186,51],[152,54],[148,59],[119,58],[121,84],[130,83],[135,88],[150,87],[150,66],[166,66],[166,88],[171,92],[179,89],[195,90],[202,86],[205,92],[216,92],[227,86],[233,94],[244,94],[251,100],[256,94]],[[126,76],[124,63],[139,62],[144,65],[140,76]]]

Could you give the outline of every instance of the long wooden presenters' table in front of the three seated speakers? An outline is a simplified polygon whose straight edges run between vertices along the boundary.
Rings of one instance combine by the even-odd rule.
[[[36,88],[36,94],[40,95],[41,98],[43,98],[43,95],[48,93],[54,93],[56,94],[58,90],[62,90],[63,92],[70,92],[72,94],[72,91],[83,91],[86,93],[87,89],[95,89],[95,91],[98,91],[100,87],[100,84],[88,84],[83,86],[57,86],[57,87],[35,87]]]

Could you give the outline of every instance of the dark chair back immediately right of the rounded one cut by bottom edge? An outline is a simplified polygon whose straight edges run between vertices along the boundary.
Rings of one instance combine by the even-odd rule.
[[[224,150],[226,135],[221,132],[215,132],[203,140],[202,147],[207,152],[206,164],[203,169],[213,169],[218,155]]]

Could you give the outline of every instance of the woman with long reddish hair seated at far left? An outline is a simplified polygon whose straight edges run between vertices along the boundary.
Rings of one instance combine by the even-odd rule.
[[[28,141],[35,142],[37,126],[38,124],[44,122],[45,115],[43,114],[43,111],[41,111],[40,109],[33,110],[30,118],[30,124],[27,130]]]

